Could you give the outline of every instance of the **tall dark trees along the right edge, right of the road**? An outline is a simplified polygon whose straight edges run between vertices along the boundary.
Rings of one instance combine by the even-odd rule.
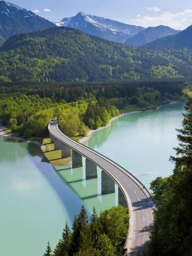
[[[170,157],[173,175],[151,183],[157,209],[147,256],[192,255],[192,99],[185,110],[176,156]]]

